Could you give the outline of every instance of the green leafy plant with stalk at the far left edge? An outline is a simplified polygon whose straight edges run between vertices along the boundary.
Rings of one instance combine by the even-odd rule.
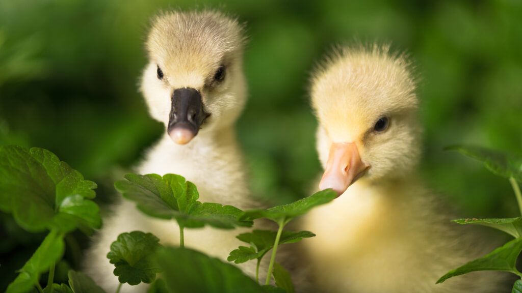
[[[43,292],[39,279],[45,272],[49,272],[46,292],[63,289],[55,288],[53,280],[55,264],[64,253],[65,235],[77,228],[90,233],[101,227],[98,205],[91,201],[96,187],[47,150],[0,146],[0,210],[12,213],[28,231],[50,231],[7,287],[8,293],[33,287]]]

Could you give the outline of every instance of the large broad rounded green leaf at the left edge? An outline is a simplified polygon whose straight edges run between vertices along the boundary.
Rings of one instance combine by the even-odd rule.
[[[96,187],[50,151],[0,146],[0,210],[28,231],[100,228]]]

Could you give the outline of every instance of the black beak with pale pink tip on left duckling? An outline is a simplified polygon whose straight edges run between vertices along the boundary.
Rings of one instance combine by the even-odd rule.
[[[198,133],[210,114],[205,112],[201,94],[192,88],[177,89],[172,93],[172,107],[167,132],[177,144],[187,144]]]

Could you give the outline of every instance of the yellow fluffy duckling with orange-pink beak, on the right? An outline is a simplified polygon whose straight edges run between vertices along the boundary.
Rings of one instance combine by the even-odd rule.
[[[415,91],[410,63],[387,47],[341,48],[313,74],[319,189],[339,194],[302,223],[317,234],[303,241],[316,292],[501,291],[491,272],[435,285],[483,251],[417,178]]]

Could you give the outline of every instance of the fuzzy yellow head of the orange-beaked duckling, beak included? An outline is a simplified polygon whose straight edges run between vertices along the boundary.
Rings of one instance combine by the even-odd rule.
[[[420,148],[418,99],[409,64],[387,48],[343,48],[312,78],[319,121],[319,188],[345,192],[355,180],[405,176]]]

